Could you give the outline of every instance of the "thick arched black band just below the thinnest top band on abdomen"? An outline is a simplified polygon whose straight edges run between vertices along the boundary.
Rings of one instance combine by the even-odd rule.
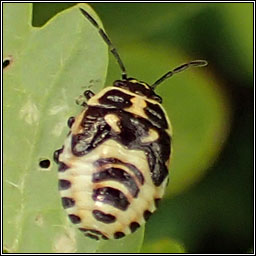
[[[93,182],[102,182],[105,180],[115,180],[127,187],[133,197],[137,197],[139,188],[131,175],[120,168],[108,168],[100,172],[96,172],[92,176]]]

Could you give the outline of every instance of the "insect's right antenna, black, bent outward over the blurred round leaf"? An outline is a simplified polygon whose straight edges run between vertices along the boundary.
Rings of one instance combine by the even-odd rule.
[[[206,60],[193,60],[190,61],[188,63],[182,64],[180,66],[178,66],[177,68],[173,69],[172,71],[167,72],[166,74],[164,74],[161,78],[159,78],[156,82],[154,82],[151,85],[152,90],[155,90],[156,87],[162,83],[164,80],[166,80],[167,78],[173,76],[176,73],[179,73],[183,70],[186,70],[190,67],[204,67],[208,64],[208,62]]]

